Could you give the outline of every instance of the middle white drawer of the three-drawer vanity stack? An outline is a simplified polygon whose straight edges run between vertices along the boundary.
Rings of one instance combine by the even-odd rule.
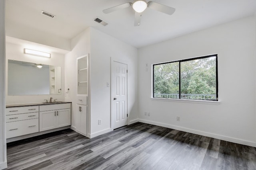
[[[21,121],[27,119],[35,119],[39,118],[39,113],[23,113],[23,114],[16,114],[16,115],[6,115],[5,122],[12,122],[12,121]]]

